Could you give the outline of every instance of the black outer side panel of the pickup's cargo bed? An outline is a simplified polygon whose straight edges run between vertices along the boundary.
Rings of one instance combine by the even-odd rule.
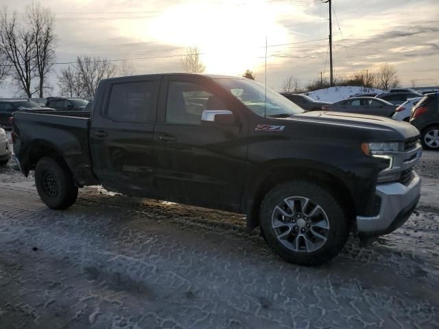
[[[90,112],[14,113],[14,153],[25,175],[34,169],[35,157],[60,154],[79,186],[95,182],[88,147]]]

